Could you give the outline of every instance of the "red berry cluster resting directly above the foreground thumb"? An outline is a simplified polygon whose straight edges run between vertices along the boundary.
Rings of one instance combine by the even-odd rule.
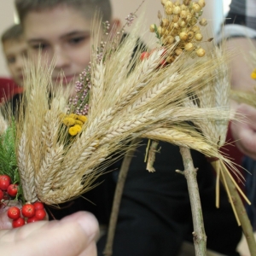
[[[44,204],[37,201],[33,204],[24,205],[21,210],[18,207],[10,207],[7,215],[13,219],[13,228],[18,228],[24,224],[43,220],[46,212],[44,210]]]

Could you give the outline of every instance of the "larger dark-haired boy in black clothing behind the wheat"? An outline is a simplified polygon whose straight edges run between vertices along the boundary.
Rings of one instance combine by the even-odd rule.
[[[103,20],[113,24],[108,0],[16,0],[15,4],[29,54],[38,55],[38,51],[42,51],[49,61],[55,55],[52,80],[58,82],[63,72],[63,86],[73,84],[90,62],[94,11],[101,9]],[[157,172],[145,170],[146,146],[138,148],[131,161],[113,243],[114,256],[167,256],[170,253],[175,256],[183,241],[193,240],[186,179],[175,172],[183,170],[179,149],[168,143],[160,143],[160,146],[161,154],[157,155],[154,165]],[[237,227],[227,196],[224,192],[220,194],[221,206],[216,209],[212,168],[202,154],[193,151],[192,156],[195,167],[199,167],[197,177],[207,247],[229,256],[238,255],[236,245],[241,239],[241,229]],[[110,166],[101,177],[104,182],[84,195],[88,201],[79,198],[62,210],[50,209],[55,218],[86,210],[94,213],[100,224],[108,225],[120,166],[121,161]],[[117,171],[108,172],[113,170]],[[102,236],[97,242],[98,255],[102,255],[105,244],[106,236]]]

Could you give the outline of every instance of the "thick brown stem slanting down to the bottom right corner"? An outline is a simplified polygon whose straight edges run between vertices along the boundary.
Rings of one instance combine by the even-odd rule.
[[[229,172],[228,170],[226,171]],[[241,197],[236,190],[236,186],[232,182],[230,175],[227,172],[223,172],[223,174],[224,174],[224,178],[227,183],[227,186],[230,189],[230,195],[234,203],[234,206],[236,207],[238,218],[240,219],[240,222],[241,222],[241,229],[243,231],[244,236],[247,239],[247,245],[249,247],[249,251],[251,255],[256,255],[256,242],[253,236],[253,227],[247,216],[247,212],[245,210],[245,207],[243,206]],[[222,177],[221,177],[221,181],[224,182]]]

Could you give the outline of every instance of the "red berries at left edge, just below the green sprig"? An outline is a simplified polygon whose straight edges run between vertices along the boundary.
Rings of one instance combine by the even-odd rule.
[[[11,178],[8,175],[0,175],[0,201],[15,197],[18,193],[18,187],[17,184],[11,183]]]

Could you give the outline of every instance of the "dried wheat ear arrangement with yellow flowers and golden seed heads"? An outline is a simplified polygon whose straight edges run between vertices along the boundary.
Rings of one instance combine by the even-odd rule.
[[[131,154],[139,137],[153,140],[148,149],[151,172],[157,141],[180,146],[184,163],[189,163],[183,173],[194,176],[188,177],[193,186],[196,171],[189,148],[232,166],[219,152],[231,118],[225,91],[227,56],[201,46],[201,27],[207,25],[201,18],[205,1],[161,3],[165,13],[158,15],[160,26],[150,26],[159,44],[150,52],[142,53],[140,20],[128,35],[123,27],[109,32],[105,21],[107,39],[102,40],[102,22],[96,19],[90,67],[80,75],[71,99],[61,84],[58,88],[51,84],[52,66],[39,60],[27,67],[19,115],[0,119],[1,147],[9,148],[14,159],[11,172],[5,173],[0,163],[0,173],[8,174],[21,191],[9,199],[26,206],[70,201],[93,189],[96,178],[113,161],[126,151]],[[135,17],[129,15],[127,25]],[[212,45],[211,41],[205,43]],[[14,136],[7,141],[10,133]],[[206,235],[202,218],[197,218],[202,216],[198,190],[189,193],[197,198],[192,201],[196,255],[205,255]],[[111,254],[110,244],[106,255]]]

